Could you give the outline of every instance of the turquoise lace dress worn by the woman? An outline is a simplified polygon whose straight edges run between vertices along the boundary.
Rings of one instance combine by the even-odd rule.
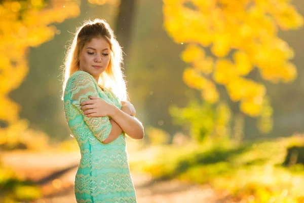
[[[77,140],[81,160],[75,176],[74,192],[77,202],[109,203],[136,202],[126,152],[125,133],[109,144],[109,117],[87,117],[81,103],[97,96],[122,108],[118,97],[109,90],[102,91],[89,73],[73,73],[64,91],[64,111],[68,126]]]

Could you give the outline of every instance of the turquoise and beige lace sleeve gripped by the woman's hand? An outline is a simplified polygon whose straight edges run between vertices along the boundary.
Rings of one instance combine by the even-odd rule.
[[[99,97],[93,80],[89,73],[80,72],[73,80],[70,98],[72,105],[82,113],[86,124],[92,130],[94,136],[100,142],[103,142],[109,136],[112,128],[109,117],[88,117],[81,109],[81,103],[89,100],[89,96]]]

